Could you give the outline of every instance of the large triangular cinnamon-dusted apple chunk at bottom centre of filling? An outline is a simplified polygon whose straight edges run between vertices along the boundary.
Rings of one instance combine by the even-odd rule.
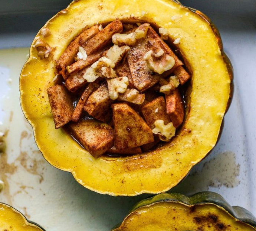
[[[112,108],[117,149],[138,147],[154,141],[150,127],[127,103],[114,103]]]

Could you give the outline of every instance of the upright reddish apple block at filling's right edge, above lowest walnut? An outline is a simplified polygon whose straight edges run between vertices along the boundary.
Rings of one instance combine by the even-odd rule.
[[[178,88],[175,88],[170,95],[165,95],[166,112],[170,115],[173,126],[177,128],[184,119],[184,103]]]

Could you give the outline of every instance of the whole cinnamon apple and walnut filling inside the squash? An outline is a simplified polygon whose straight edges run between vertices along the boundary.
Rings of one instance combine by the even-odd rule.
[[[164,28],[159,34],[118,19],[83,30],[57,60],[61,80],[47,89],[55,128],[65,126],[94,157],[170,142],[183,123],[180,85],[190,75]]]

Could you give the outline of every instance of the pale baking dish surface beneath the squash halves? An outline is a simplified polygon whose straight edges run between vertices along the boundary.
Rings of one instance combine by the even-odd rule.
[[[46,230],[110,230],[133,204],[148,195],[97,194],[79,185],[70,173],[50,166],[37,149],[19,104],[19,74],[33,37],[69,1],[43,1],[48,6],[35,1],[33,7],[25,1],[9,2],[0,10],[0,132],[6,134],[7,145],[0,157],[0,180],[5,185],[0,201]],[[220,0],[182,3],[206,13],[219,28],[233,65],[234,94],[216,147],[171,191],[187,195],[215,191],[231,205],[256,215],[256,2],[225,0],[222,6]],[[15,7],[11,9],[12,4]]]

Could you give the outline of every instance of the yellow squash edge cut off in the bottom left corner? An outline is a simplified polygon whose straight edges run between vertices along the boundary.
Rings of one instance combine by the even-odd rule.
[[[34,222],[28,221],[10,205],[0,203],[0,230],[2,231],[45,231]]]

